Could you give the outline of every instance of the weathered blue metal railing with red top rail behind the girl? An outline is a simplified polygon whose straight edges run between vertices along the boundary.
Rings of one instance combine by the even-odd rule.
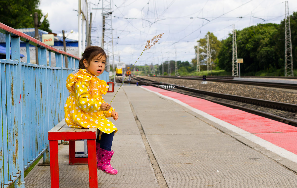
[[[79,58],[2,23],[0,32],[6,35],[6,59],[0,59],[0,186],[15,183],[24,188],[24,170],[42,154],[49,163],[47,132],[64,119],[69,95],[65,82]],[[26,42],[27,63],[21,62],[21,40]],[[38,65],[30,63],[29,44],[37,46]],[[56,57],[56,67],[51,67],[51,56]],[[99,78],[109,81],[108,72]]]

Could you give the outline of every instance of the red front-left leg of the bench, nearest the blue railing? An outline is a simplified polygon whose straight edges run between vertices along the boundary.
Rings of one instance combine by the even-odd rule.
[[[50,140],[50,187],[59,188],[58,140]]]

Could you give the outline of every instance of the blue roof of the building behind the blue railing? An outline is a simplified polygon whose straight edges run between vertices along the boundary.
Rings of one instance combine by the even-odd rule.
[[[21,28],[21,29],[16,29],[16,30],[23,32],[26,35],[29,35],[30,37],[35,36],[35,28]],[[42,39],[42,34],[48,34],[48,32],[38,29],[38,34],[40,36],[40,39]],[[42,40],[40,40],[40,41],[42,41]],[[72,39],[68,39],[68,38],[66,38],[65,41],[66,41],[66,43],[67,42],[78,42],[77,40],[72,40]],[[20,41],[20,42],[23,42],[23,41]],[[59,37],[59,36],[54,37],[54,42],[63,42],[63,37]],[[0,33],[0,43],[5,43],[5,34],[3,34],[3,33]]]

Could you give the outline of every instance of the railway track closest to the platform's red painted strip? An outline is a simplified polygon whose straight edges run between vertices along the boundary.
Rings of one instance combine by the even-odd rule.
[[[170,83],[156,82],[135,76],[132,78],[135,81],[130,81],[129,83],[131,84],[138,83],[139,85],[150,85],[169,91],[175,91],[181,94],[206,99],[211,102],[228,106],[230,108],[240,109],[297,127],[297,105],[295,104],[203,91]],[[128,83],[128,81],[125,81],[125,83]],[[169,87],[164,88],[164,86],[172,86],[173,88],[167,89]]]

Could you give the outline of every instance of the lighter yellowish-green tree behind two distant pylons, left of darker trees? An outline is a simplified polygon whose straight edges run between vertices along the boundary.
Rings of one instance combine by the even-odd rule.
[[[208,37],[209,37],[209,46],[210,46],[210,53],[211,53],[211,61],[212,61],[212,66],[216,67],[217,65],[214,64],[213,62],[216,62],[215,59],[217,59],[217,56],[219,54],[219,51],[221,49],[221,41],[219,41],[217,39],[216,36],[214,36],[214,34],[212,32],[207,32]],[[206,54],[206,50],[207,50],[207,46],[206,46],[206,35],[205,38],[202,38],[200,40],[198,40],[197,42],[199,42],[200,44],[200,48],[199,48],[199,57],[200,57],[200,64],[207,64],[207,54]],[[197,54],[197,46],[194,47],[195,48],[195,53]],[[193,67],[196,67],[197,64],[197,59],[192,59],[192,64]]]

